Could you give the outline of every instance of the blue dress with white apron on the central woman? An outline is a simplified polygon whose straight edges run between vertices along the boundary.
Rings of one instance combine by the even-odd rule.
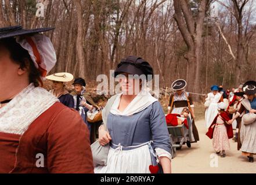
[[[149,165],[157,165],[155,149],[171,153],[164,111],[158,101],[132,116],[109,113],[107,128],[111,136],[107,165],[96,166],[95,173],[149,173]]]

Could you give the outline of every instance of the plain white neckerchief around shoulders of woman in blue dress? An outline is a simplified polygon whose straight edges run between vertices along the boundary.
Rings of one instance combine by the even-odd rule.
[[[149,89],[147,88],[146,90],[140,91],[139,94],[136,95],[136,97],[129,103],[127,108],[125,108],[123,112],[120,112],[120,110],[118,110],[118,106],[121,95],[122,92],[117,95],[117,98],[110,109],[110,112],[114,115],[131,116],[132,114],[146,109],[149,105],[157,101],[157,99],[150,94]]]

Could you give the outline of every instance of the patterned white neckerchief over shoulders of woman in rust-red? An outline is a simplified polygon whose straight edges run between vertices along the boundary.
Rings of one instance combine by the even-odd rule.
[[[38,116],[59,100],[31,83],[0,109],[0,132],[22,135]]]

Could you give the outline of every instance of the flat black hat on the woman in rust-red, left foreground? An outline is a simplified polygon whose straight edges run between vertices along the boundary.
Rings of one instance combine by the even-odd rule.
[[[13,27],[4,27],[0,28],[0,39],[10,38],[13,36],[20,35],[33,35],[40,32],[50,31],[55,28],[37,28],[37,29],[24,29],[20,25],[16,25]]]

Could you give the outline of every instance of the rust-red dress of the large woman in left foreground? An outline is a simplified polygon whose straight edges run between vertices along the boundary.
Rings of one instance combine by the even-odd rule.
[[[93,173],[88,134],[80,115],[56,102],[23,135],[0,132],[0,173]]]

